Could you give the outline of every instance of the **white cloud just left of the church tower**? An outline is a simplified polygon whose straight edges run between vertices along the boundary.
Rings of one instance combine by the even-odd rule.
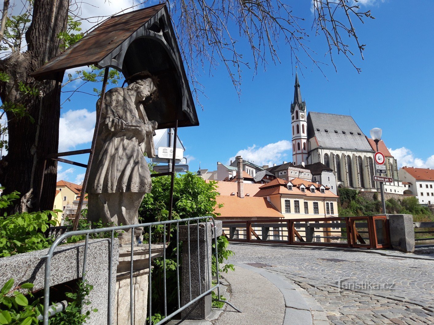
[[[282,159],[288,156],[289,150],[292,150],[291,141],[281,140],[259,148],[253,145],[238,151],[235,156],[242,156],[244,160],[253,162],[258,166],[272,165],[273,163],[282,163]],[[235,157],[231,157],[229,160],[234,159]]]

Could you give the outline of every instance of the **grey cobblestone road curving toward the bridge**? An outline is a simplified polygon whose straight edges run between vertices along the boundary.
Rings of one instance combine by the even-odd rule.
[[[434,324],[434,261],[327,248],[230,244],[296,283],[314,325]]]

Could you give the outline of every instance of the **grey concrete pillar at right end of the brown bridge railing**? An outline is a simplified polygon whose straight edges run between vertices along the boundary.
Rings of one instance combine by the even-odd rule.
[[[414,251],[414,226],[411,214],[388,214],[390,244],[405,253]]]

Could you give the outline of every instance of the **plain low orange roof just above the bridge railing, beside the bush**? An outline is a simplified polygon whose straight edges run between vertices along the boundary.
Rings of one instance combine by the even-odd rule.
[[[218,196],[216,201],[224,204],[222,208],[216,208],[215,212],[220,213],[217,218],[284,218],[266,198]]]

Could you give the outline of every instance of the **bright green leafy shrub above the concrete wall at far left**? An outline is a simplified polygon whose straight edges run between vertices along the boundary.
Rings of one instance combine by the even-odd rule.
[[[12,192],[9,195],[2,195],[0,208],[12,204],[13,200],[19,198],[18,194]],[[56,218],[55,212],[61,211],[23,212],[9,216],[5,213],[0,217],[0,257],[49,247],[53,240],[46,238],[43,233],[48,229],[49,224],[56,225],[55,220],[49,221],[49,216]]]

